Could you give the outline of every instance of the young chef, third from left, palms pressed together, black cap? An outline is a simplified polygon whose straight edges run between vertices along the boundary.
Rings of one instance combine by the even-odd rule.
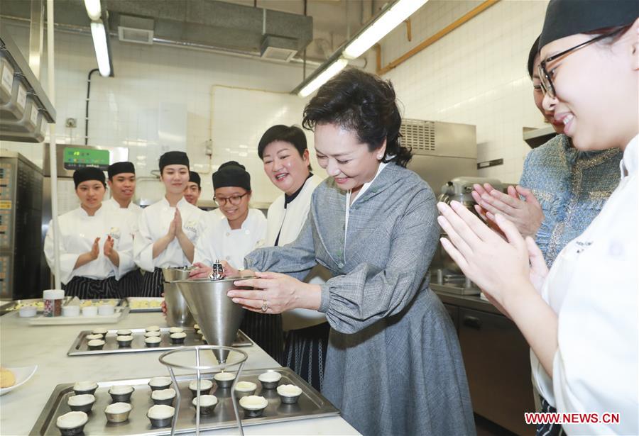
[[[145,271],[141,296],[148,297],[162,294],[163,268],[185,267],[193,262],[204,213],[184,199],[189,181],[185,152],[165,152],[160,157],[160,180],[165,196],[143,209],[133,242],[135,262]]]

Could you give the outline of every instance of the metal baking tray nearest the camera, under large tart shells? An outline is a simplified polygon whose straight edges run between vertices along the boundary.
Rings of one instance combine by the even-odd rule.
[[[275,389],[262,389],[258,381],[259,374],[269,369],[251,369],[242,371],[240,381],[252,381],[258,387],[255,395],[263,396],[268,400],[268,406],[264,410],[261,418],[245,418],[244,410],[238,405],[238,413],[242,420],[242,425],[258,425],[264,423],[279,423],[284,421],[303,420],[308,418],[320,418],[324,416],[339,415],[339,410],[319,392],[315,391],[309,384],[300,378],[289,368],[274,368],[282,374],[280,384],[295,384],[302,388],[297,404],[283,404],[280,401]],[[168,376],[168,374],[163,374]],[[204,379],[212,380],[212,374],[203,374]],[[195,374],[176,376],[182,400],[178,413],[178,422],[175,425],[176,433],[193,432],[195,430],[195,408],[191,405],[191,393],[188,389],[190,381],[195,380]],[[89,422],[84,426],[85,435],[170,435],[171,427],[156,428],[151,427],[151,423],[146,418],[148,408],[153,406],[151,401],[151,389],[148,387],[149,379],[130,379],[116,381],[100,381],[95,393],[96,402],[92,412],[89,413]],[[129,384],[135,388],[131,396],[131,415],[124,423],[107,423],[104,409],[111,403],[111,396],[108,390],[111,386]],[[53,389],[53,393],[45,404],[40,417],[33,425],[30,435],[60,435],[60,430],[55,427],[55,420],[58,416],[69,412],[67,400],[73,395],[73,384],[58,384]],[[219,403],[212,415],[201,416],[200,430],[214,430],[219,428],[237,427],[233,411],[231,389],[219,389],[213,384],[212,395],[217,396]],[[177,404],[177,398],[173,406]]]

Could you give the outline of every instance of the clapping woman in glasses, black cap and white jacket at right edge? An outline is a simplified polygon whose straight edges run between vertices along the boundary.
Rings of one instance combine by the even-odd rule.
[[[568,434],[639,434],[638,17],[636,1],[548,4],[539,68],[545,110],[577,149],[623,150],[619,185],[550,272],[535,242],[503,216],[496,218],[508,241],[463,206],[439,204],[444,249],[523,332],[539,362],[537,389],[559,413],[589,414],[589,423],[560,423]]]

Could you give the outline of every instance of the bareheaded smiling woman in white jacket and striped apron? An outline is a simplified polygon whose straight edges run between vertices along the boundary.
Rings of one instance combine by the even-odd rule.
[[[264,172],[283,194],[268,208],[266,245],[286,245],[302,230],[311,194],[322,182],[311,172],[306,135],[295,125],[273,125],[262,135],[258,155]],[[330,277],[316,267],[306,281],[322,284]],[[281,364],[293,369],[318,391],[322,389],[330,326],[324,313],[293,309],[282,313],[285,347]]]

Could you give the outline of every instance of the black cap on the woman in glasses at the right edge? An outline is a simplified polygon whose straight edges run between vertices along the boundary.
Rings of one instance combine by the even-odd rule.
[[[550,0],[539,48],[566,36],[627,26],[638,16],[637,0]]]

